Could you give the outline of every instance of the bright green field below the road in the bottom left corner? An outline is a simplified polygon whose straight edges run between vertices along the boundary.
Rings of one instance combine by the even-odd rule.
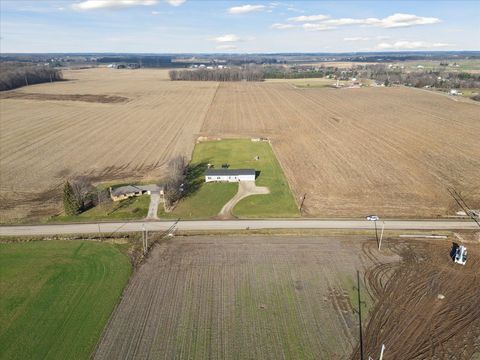
[[[110,244],[0,244],[0,358],[88,359],[131,273]]]

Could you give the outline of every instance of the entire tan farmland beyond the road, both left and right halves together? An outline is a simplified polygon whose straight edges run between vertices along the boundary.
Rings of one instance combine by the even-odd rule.
[[[61,211],[61,187],[155,179],[198,135],[265,136],[302,214],[435,217],[480,207],[480,107],[407,88],[170,82],[165,70],[66,71],[0,97],[2,222]]]

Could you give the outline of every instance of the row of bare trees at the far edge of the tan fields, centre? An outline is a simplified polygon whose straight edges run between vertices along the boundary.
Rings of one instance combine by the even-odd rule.
[[[265,78],[264,71],[259,67],[170,70],[168,74],[173,81],[263,81]]]

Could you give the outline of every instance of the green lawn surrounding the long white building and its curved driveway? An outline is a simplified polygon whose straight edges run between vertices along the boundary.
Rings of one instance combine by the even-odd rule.
[[[255,160],[255,156],[260,159]],[[160,217],[170,218],[208,218],[219,213],[223,205],[235,195],[238,184],[204,183],[203,172],[206,164],[221,168],[230,164],[230,168],[254,168],[260,171],[256,180],[258,186],[267,186],[268,195],[254,195],[240,201],[234,208],[235,216],[241,218],[295,217],[299,212],[293,199],[282,168],[269,143],[252,142],[250,139],[228,139],[201,142],[195,146],[191,166],[195,169],[195,186],[198,190],[183,199],[177,208]],[[201,171],[200,171],[201,169]]]

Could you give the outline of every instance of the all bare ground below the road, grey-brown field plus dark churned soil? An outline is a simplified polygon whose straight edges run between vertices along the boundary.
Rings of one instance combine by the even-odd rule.
[[[480,251],[450,241],[186,237],[131,279],[95,359],[470,359],[480,352]],[[333,257],[335,260],[332,261]],[[365,286],[364,282],[368,285]],[[444,295],[439,299],[438,295]]]

